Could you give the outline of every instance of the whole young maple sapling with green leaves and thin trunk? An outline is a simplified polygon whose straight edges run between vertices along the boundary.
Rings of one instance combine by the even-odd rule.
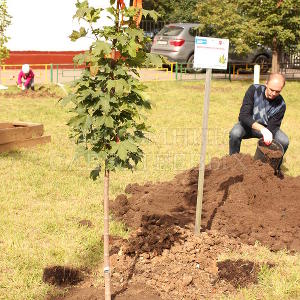
[[[68,125],[78,145],[76,157],[94,164],[90,174],[94,180],[104,170],[105,299],[110,299],[109,174],[120,168],[133,170],[142,160],[140,143],[147,132],[142,112],[151,104],[138,69],[161,64],[159,57],[145,52],[149,39],[137,26],[141,11],[126,8],[121,0],[110,3],[107,12],[114,25],[104,28],[96,26],[103,9],[91,7],[87,0],[76,3],[74,18],[86,26],[74,30],[70,38],[76,41],[89,35],[95,42],[89,51],[76,56],[76,63],[85,64],[86,69],[73,93],[62,100],[62,104],[72,105]],[[143,10],[143,14],[157,16],[153,11]]]

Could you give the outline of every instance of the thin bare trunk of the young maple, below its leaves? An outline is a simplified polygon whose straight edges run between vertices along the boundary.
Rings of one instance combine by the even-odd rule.
[[[104,172],[104,282],[105,300],[111,299],[109,262],[109,170]]]

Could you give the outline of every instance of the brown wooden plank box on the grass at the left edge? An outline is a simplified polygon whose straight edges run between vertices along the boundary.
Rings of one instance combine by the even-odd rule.
[[[0,123],[0,152],[49,143],[51,136],[43,136],[43,134],[43,124],[24,122]]]

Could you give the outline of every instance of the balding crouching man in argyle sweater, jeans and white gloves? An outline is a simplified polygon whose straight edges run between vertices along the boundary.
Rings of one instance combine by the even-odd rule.
[[[289,139],[280,129],[286,110],[284,99],[280,95],[284,85],[284,76],[273,73],[269,75],[265,85],[253,84],[249,87],[240,109],[239,122],[229,133],[230,155],[240,152],[242,139],[261,137],[267,145],[273,139],[276,140],[286,152]],[[280,169],[278,172],[280,173]]]

